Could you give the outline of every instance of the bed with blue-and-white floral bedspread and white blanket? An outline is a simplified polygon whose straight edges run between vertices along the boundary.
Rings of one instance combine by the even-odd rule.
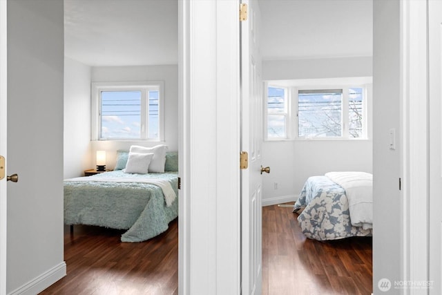
[[[329,172],[309,177],[293,210],[299,213],[302,233],[314,240],[372,236],[372,191],[370,173]]]

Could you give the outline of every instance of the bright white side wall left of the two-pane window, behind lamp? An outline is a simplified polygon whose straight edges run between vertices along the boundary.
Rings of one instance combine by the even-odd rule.
[[[90,166],[90,66],[64,59],[64,178]]]

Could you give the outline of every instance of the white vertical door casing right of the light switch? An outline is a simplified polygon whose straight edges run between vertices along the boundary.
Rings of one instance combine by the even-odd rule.
[[[428,280],[427,1],[401,0],[404,281]],[[425,198],[424,198],[425,197]],[[377,288],[377,282],[374,288]],[[403,294],[427,294],[404,289]]]

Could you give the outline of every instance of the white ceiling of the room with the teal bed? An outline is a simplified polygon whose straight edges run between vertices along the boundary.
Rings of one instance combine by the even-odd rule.
[[[65,55],[89,66],[177,64],[177,0],[64,0]]]

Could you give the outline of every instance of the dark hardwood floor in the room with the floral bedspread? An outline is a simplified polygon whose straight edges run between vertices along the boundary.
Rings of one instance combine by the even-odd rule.
[[[372,238],[309,240],[297,217],[262,210],[262,294],[372,294]]]

